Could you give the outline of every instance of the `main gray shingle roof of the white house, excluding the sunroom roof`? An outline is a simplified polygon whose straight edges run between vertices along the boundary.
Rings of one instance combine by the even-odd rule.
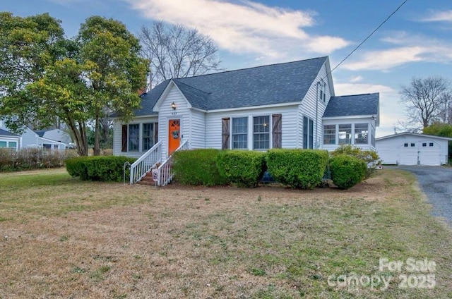
[[[205,110],[300,102],[328,57],[174,79],[191,106]],[[143,95],[136,116],[152,108],[168,80]]]

